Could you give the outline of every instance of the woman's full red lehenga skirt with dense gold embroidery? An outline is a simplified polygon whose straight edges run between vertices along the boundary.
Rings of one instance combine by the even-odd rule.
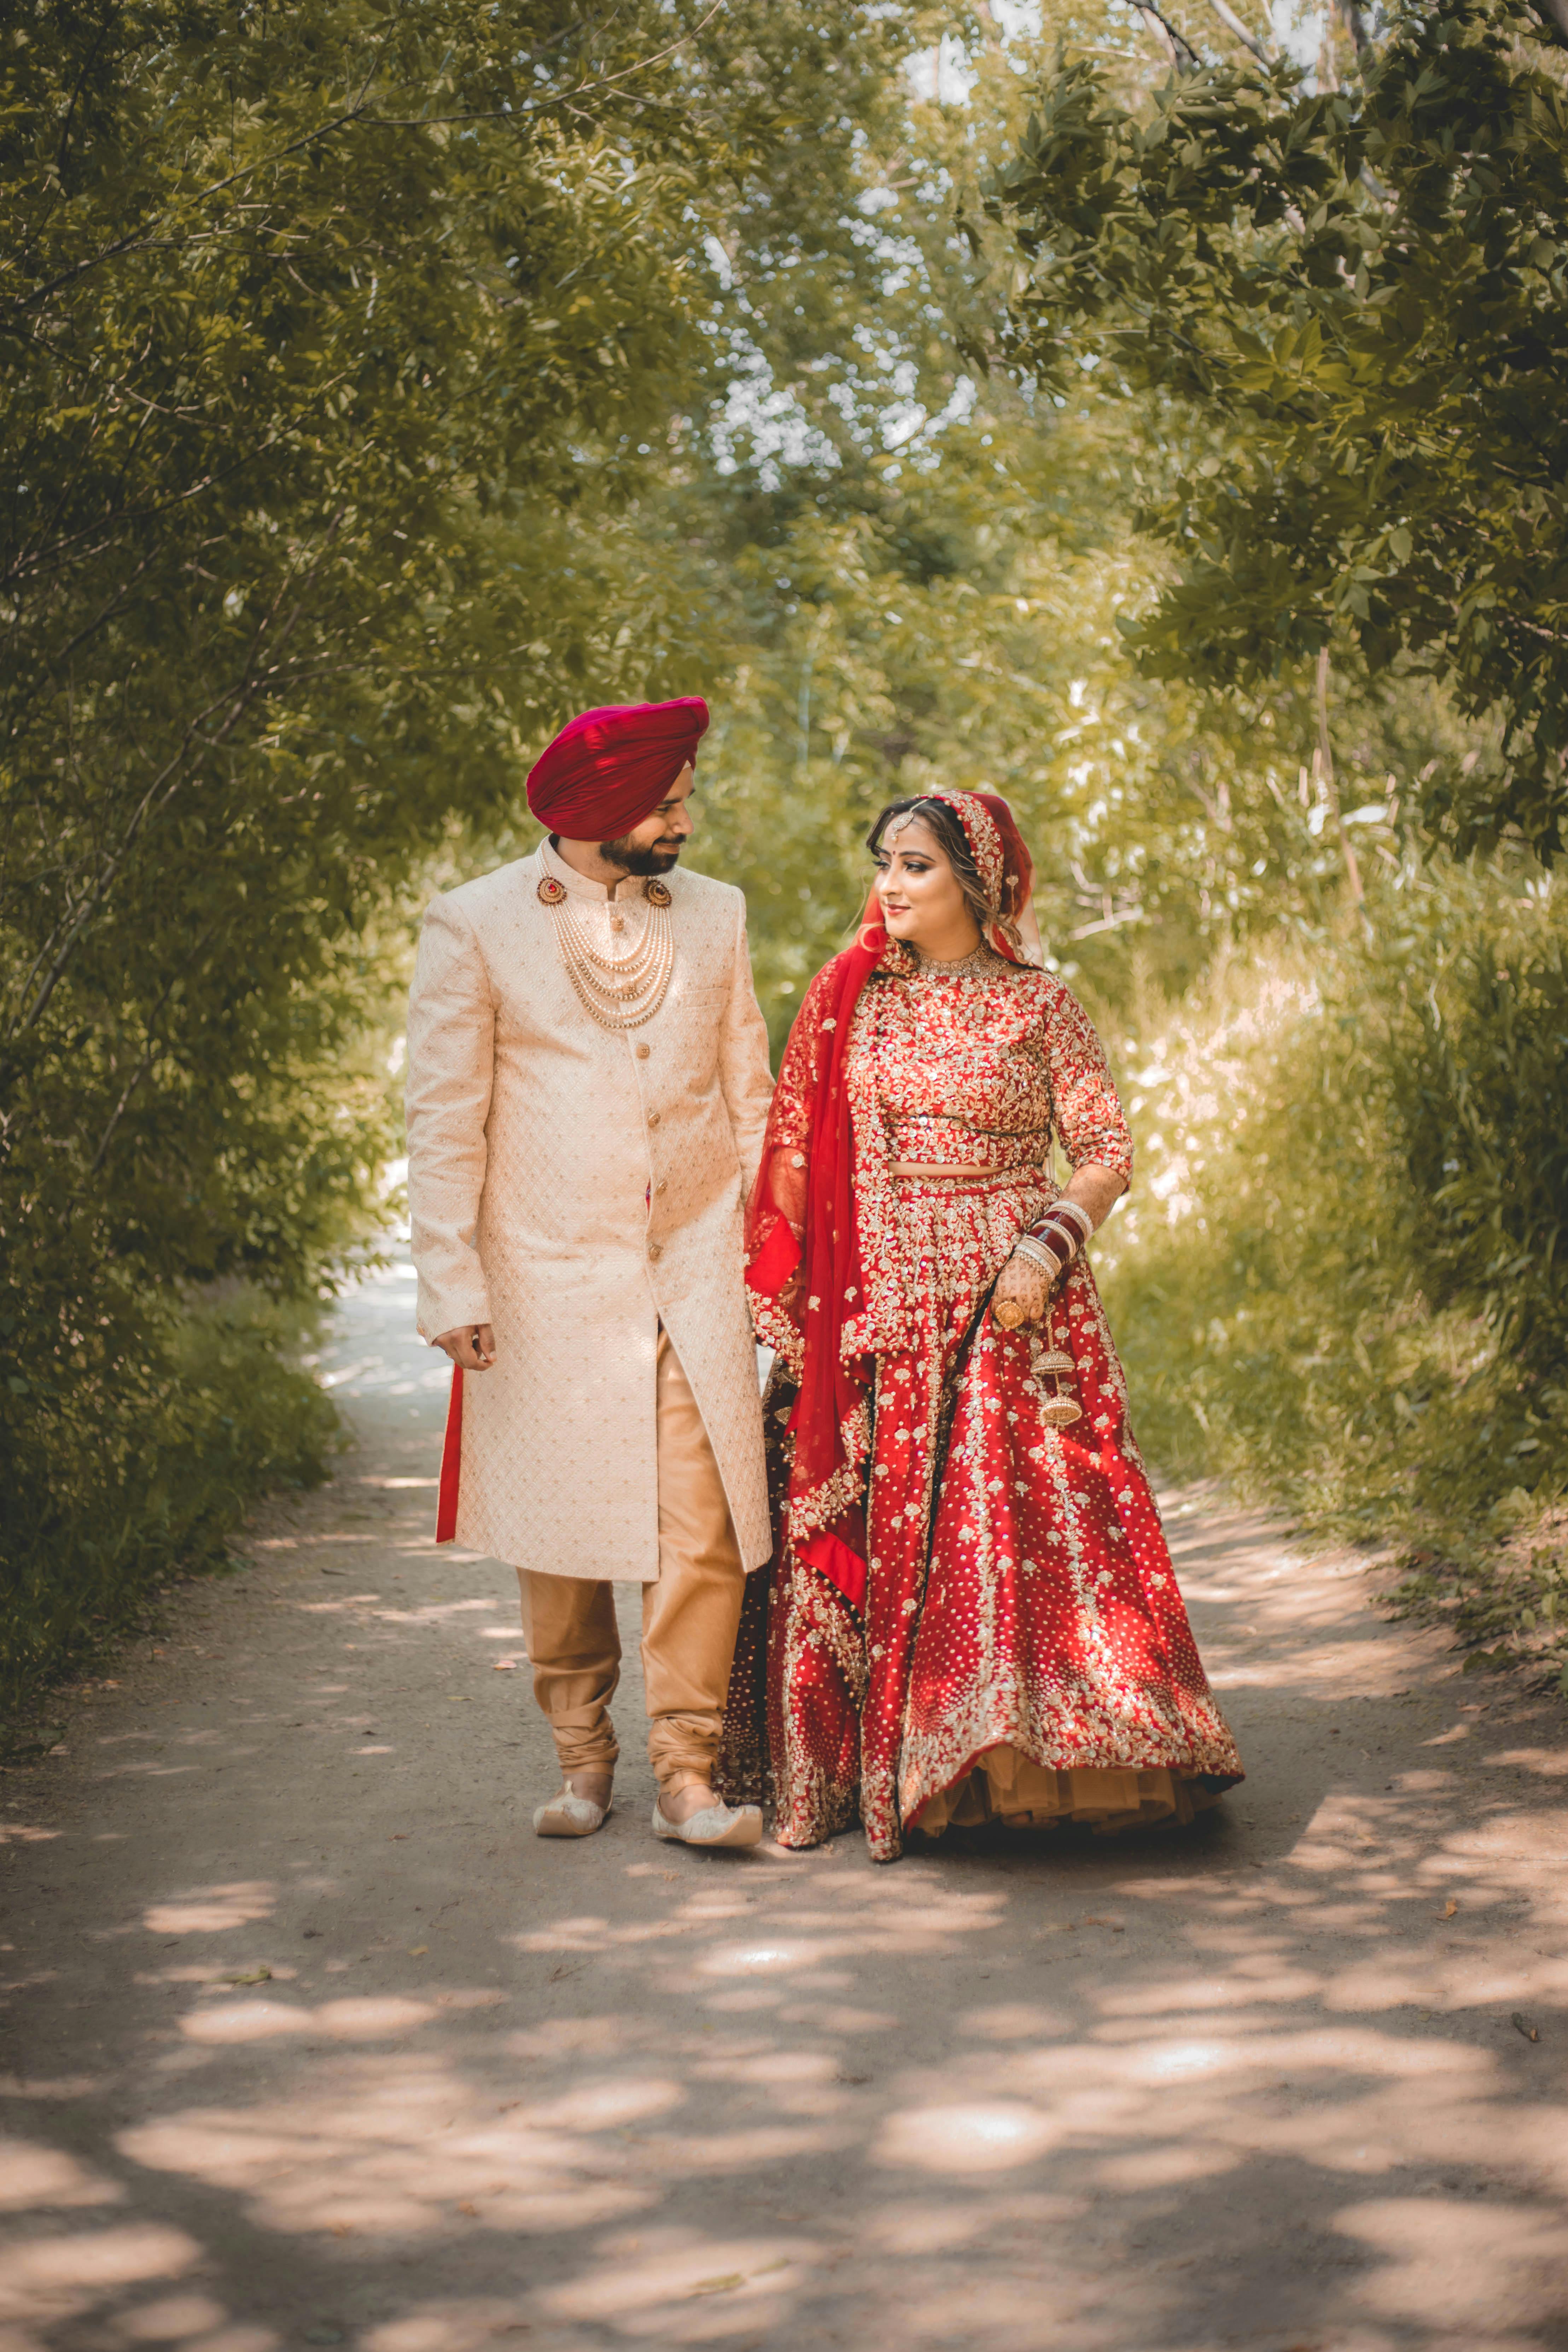
[[[1086,1263],[1041,1327],[976,1308],[1056,1188],[1039,1171],[896,1178],[910,1345],[877,1357],[865,1613],[788,1545],[750,1581],[724,1780],[783,1844],[865,1825],[1187,1820],[1241,1778],[1126,1428]],[[1072,1376],[1041,1369],[1065,1350]],[[1048,1397],[1081,1406],[1070,1428]],[[769,1444],[788,1479],[792,1390]]]

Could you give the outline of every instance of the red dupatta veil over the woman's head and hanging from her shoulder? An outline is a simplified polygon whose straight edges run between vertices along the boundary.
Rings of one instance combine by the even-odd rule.
[[[943,788],[924,797],[945,802],[964,826],[980,887],[997,910],[985,924],[985,943],[1013,964],[1025,962],[1009,934],[1032,920],[1034,866],[1006,800]],[[875,1359],[844,1350],[844,1322],[865,1296],[844,1061],[860,990],[879,969],[903,971],[907,962],[872,894],[853,948],[818,971],[790,1030],[745,1221],[745,1284],[757,1331],[799,1374],[783,1534],[856,1611],[865,1606]]]

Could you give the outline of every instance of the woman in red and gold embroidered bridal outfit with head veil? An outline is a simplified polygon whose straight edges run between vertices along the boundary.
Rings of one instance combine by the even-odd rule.
[[[1190,1820],[1241,1762],[1084,1258],[1128,1183],[1121,1103],[1025,950],[1009,804],[896,800],[870,849],[867,917],[804,997],[750,1200],[778,1524],[726,1778],[766,1783],[788,1846],[858,1813],[877,1860],[990,1818]]]

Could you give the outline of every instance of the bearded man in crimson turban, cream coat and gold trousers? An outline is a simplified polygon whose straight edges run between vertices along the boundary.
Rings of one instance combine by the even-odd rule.
[[[741,1211],[766,1124],[745,901],[679,873],[708,706],[585,710],[529,774],[548,842],[437,898],[409,1002],[418,1329],[454,1362],[437,1543],[508,1559],[562,1766],[611,1802],[616,1588],[642,1588],[654,1835],[750,1846],[712,1790],[771,1550]]]

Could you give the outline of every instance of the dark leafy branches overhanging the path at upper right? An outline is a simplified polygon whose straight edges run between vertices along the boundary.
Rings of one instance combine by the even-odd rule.
[[[1001,348],[1161,397],[1211,445],[1150,485],[1175,579],[1145,670],[1260,682],[1333,640],[1495,715],[1422,786],[1458,849],[1568,807],[1568,92],[1521,0],[1403,0],[1345,89],[1251,59],[1140,103],[1058,54],[990,209]]]

